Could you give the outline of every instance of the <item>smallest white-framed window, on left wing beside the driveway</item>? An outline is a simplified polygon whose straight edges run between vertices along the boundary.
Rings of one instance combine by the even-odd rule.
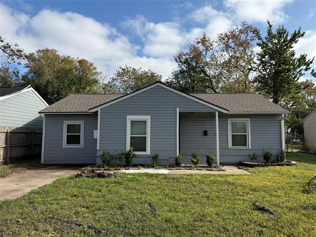
[[[83,147],[83,121],[64,121],[63,147]]]

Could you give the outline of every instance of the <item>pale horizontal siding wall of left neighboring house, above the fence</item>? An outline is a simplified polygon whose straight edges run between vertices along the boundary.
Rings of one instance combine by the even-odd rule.
[[[1,100],[0,126],[42,128],[38,112],[46,107],[32,90]]]

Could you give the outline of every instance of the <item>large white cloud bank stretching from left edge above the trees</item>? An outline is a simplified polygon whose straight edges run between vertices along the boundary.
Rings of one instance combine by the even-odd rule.
[[[8,42],[17,43],[25,52],[54,48],[60,54],[85,58],[106,73],[113,73],[127,64],[154,71],[171,71],[175,65],[171,57],[137,56],[139,46],[114,27],[73,12],[43,9],[35,16],[16,12],[1,3],[1,35]],[[161,73],[167,78],[170,73]]]

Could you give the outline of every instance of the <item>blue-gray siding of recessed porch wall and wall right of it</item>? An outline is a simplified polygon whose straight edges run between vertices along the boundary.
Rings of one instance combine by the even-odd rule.
[[[249,118],[251,149],[228,149],[228,118]],[[248,153],[256,152],[262,160],[262,147],[271,147],[274,155],[281,146],[281,115],[225,115],[219,113],[220,162],[248,160]],[[183,161],[190,161],[192,152],[197,152],[201,162],[205,154],[216,156],[215,113],[180,113],[180,154]],[[204,136],[203,131],[208,131]],[[274,157],[276,158],[276,157]]]

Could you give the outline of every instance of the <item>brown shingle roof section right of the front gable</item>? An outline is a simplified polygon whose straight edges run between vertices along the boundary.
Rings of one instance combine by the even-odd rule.
[[[191,93],[191,95],[228,109],[230,112],[289,113],[256,93]]]

